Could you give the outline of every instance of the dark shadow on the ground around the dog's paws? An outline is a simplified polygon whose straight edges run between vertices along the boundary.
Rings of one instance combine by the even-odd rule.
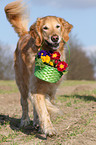
[[[1,125],[10,125],[10,128],[15,131],[21,131],[27,135],[33,135],[36,138],[46,140],[46,137],[43,137],[41,133],[38,132],[38,128],[33,127],[33,121],[31,121],[30,125],[24,128],[20,128],[20,119],[9,117],[8,115],[0,115],[0,124]]]

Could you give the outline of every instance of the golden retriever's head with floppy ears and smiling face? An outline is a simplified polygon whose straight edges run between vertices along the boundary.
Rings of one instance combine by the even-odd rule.
[[[51,49],[56,50],[62,40],[69,40],[69,32],[72,25],[62,18],[55,16],[47,16],[38,18],[37,22],[30,28],[31,34],[35,34],[36,45],[40,46],[44,41]],[[34,31],[35,30],[35,31]],[[32,35],[33,35],[32,34]]]

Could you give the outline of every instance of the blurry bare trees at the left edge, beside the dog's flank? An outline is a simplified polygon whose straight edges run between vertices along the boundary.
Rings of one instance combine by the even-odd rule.
[[[9,46],[0,43],[0,79],[14,79],[13,55]]]

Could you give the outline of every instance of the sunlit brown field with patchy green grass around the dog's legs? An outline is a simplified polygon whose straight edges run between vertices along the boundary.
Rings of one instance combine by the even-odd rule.
[[[0,81],[0,145],[95,145],[96,82],[65,81],[57,90],[56,104],[63,115],[52,115],[57,135],[45,138],[31,124],[19,128],[20,94],[15,81]]]

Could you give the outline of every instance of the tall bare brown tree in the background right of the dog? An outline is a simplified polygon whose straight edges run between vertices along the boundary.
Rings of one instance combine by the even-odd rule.
[[[86,56],[76,37],[69,40],[70,67],[67,79],[71,80],[93,80],[94,71],[90,59]],[[68,58],[68,51],[67,51]]]

